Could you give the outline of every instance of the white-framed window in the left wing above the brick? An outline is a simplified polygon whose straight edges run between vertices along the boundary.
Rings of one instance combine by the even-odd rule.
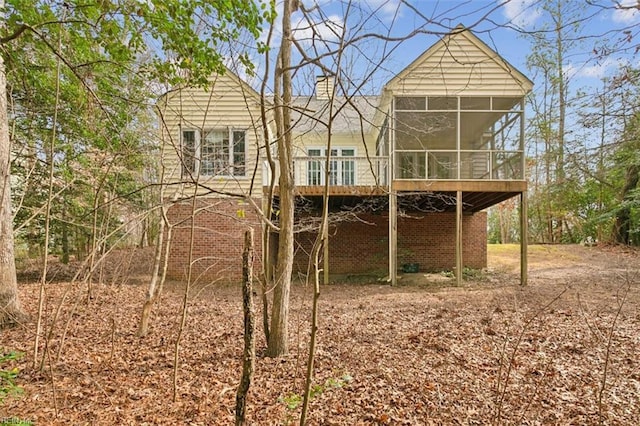
[[[236,176],[246,173],[247,132],[234,128],[183,129],[182,176]]]

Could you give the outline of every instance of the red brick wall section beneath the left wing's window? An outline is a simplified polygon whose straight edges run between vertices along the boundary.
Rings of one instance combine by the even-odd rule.
[[[236,199],[210,198],[199,200],[196,209],[192,277],[198,281],[240,281],[244,233],[249,227],[254,228],[254,275],[257,275],[262,264],[262,234],[251,205]],[[187,276],[191,212],[190,201],[174,204],[168,211],[170,222],[175,224],[167,265],[167,274],[173,279],[184,280]]]

